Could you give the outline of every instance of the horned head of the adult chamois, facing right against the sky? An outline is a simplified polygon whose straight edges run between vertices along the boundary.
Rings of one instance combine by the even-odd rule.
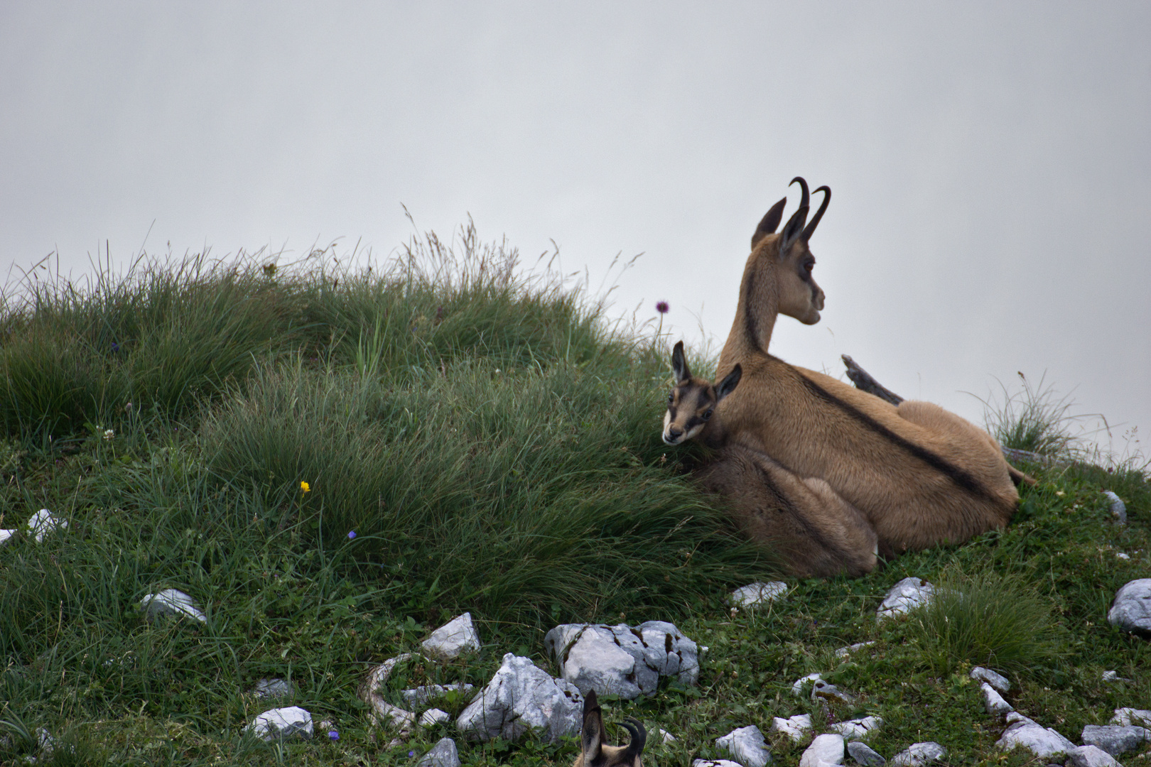
[[[772,307],[779,314],[795,317],[808,325],[820,321],[820,312],[823,309],[823,289],[811,277],[815,256],[811,255],[808,241],[828,209],[831,189],[821,186],[815,190],[823,192],[823,201],[808,223],[811,195],[807,190],[807,182],[796,176],[792,184],[800,185],[799,209],[787,220],[783,231],[776,233],[784,206],[787,205],[786,197],[771,206],[752,235],[752,255],[744,273],[746,294],[741,297],[746,310],[752,313],[749,329],[755,324],[755,313],[770,312]]]

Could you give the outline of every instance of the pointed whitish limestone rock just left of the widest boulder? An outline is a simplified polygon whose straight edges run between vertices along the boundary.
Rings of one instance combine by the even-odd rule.
[[[528,730],[555,743],[582,724],[584,696],[566,680],[554,680],[528,658],[512,653],[456,720],[468,739],[517,741]]]

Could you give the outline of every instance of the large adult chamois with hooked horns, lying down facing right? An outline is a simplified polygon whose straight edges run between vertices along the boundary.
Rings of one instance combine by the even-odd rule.
[[[961,543],[1011,520],[1019,503],[1011,468],[984,430],[921,401],[898,407],[830,376],[768,353],[776,317],[820,321],[823,290],[811,277],[808,240],[831,200],[807,223],[807,183],[799,210],[776,233],[786,198],[752,237],[739,305],[718,374],[739,366],[741,385],[717,402],[726,438],[762,451],[802,477],[818,477],[860,509],[893,555]],[[702,430],[707,438],[707,429]]]

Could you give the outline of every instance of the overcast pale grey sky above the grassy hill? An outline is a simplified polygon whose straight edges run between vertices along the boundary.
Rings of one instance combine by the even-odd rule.
[[[643,252],[617,308],[722,344],[803,175],[828,305],[776,354],[977,421],[963,392],[1046,371],[1121,448],[1151,428],[1149,40],[1146,2],[6,2],[0,267],[79,275],[153,221],[150,252],[387,256],[403,202],[593,285]]]

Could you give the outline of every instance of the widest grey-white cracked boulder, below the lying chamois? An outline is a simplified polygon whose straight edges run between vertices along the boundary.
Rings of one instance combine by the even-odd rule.
[[[543,646],[581,695],[595,690],[631,699],[655,693],[660,676],[676,676],[684,684],[695,684],[700,676],[695,643],[665,621],[635,628],[565,623],[548,631]]]

